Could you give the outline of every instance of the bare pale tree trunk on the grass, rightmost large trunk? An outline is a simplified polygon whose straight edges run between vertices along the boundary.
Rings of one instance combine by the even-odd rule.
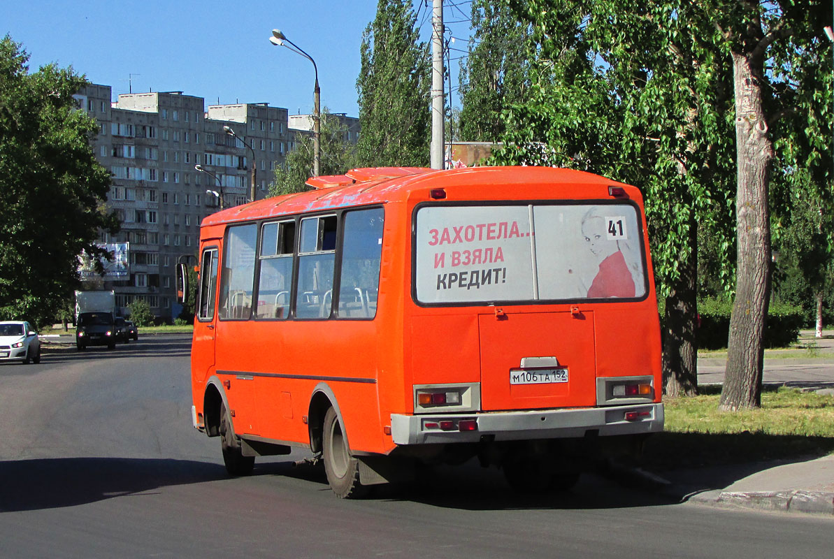
[[[719,409],[761,406],[764,332],[771,283],[771,233],[767,207],[773,155],[761,105],[761,60],[733,52],[736,94],[736,301],[730,319],[727,365]]]

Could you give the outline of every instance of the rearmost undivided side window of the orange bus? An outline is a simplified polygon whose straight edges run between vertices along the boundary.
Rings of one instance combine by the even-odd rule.
[[[339,318],[376,316],[383,224],[381,207],[344,214]]]

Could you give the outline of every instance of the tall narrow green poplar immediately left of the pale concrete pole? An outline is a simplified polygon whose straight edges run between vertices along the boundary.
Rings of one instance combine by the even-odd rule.
[[[365,28],[356,80],[360,167],[429,163],[429,47],[416,21],[410,0],[379,0]]]

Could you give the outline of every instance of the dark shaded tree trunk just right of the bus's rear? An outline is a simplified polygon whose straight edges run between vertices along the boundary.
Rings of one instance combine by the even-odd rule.
[[[671,397],[698,393],[698,226],[692,215],[689,260],[681,262],[681,276],[666,297],[663,321],[663,392]]]

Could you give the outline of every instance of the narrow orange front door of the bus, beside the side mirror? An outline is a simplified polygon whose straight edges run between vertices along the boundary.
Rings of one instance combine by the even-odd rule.
[[[205,247],[200,258],[200,283],[197,295],[197,320],[191,348],[191,374],[194,400],[202,399],[204,382],[214,374],[214,328],[217,301],[218,247]]]

